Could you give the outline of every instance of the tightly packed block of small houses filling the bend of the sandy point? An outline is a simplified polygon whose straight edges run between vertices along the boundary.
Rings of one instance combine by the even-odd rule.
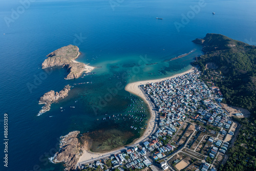
[[[212,91],[198,77],[199,72],[195,71],[142,86],[154,100],[160,113],[156,136],[174,135],[179,122],[184,120],[189,112],[197,111],[198,102],[211,96]]]

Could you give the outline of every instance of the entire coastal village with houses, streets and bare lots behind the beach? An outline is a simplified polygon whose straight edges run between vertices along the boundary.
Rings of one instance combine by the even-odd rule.
[[[194,70],[139,86],[155,104],[156,129],[142,142],[78,163],[80,170],[210,170],[227,160],[238,123],[223,108],[222,94]]]

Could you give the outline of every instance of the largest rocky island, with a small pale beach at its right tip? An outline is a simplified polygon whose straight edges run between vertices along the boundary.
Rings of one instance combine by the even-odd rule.
[[[80,55],[79,48],[69,45],[55,50],[47,55],[47,59],[42,62],[42,69],[54,66],[67,68],[68,75],[65,79],[79,78],[83,72],[90,72],[94,67],[75,61]]]

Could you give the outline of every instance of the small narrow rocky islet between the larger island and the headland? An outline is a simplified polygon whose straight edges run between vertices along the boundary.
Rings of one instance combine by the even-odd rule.
[[[45,105],[42,106],[42,109],[39,111],[38,116],[41,115],[42,113],[49,111],[51,109],[50,107],[52,103],[57,102],[58,100],[68,96],[70,88],[71,86],[67,85],[60,92],[54,92],[53,90],[51,90],[45,93],[42,97],[40,97],[39,104],[45,104]]]

